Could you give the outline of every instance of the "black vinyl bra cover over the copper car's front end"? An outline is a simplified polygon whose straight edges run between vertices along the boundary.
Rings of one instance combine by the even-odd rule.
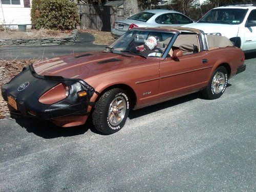
[[[29,82],[29,86],[18,91],[20,84]],[[40,96],[57,84],[63,83],[69,87],[69,95],[56,103],[43,104],[38,101]],[[86,91],[87,96],[78,97],[77,92]],[[53,120],[66,116],[88,115],[88,106],[93,105],[90,98],[94,89],[81,79],[68,79],[56,76],[37,75],[31,66],[15,76],[9,83],[2,87],[3,98],[8,101],[12,97],[17,105],[17,110],[24,116],[34,116],[42,120]]]

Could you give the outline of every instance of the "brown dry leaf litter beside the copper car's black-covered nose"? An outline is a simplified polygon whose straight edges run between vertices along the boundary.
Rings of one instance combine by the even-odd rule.
[[[25,66],[36,61],[38,60],[0,60],[0,87],[21,72]],[[15,113],[12,108],[9,108],[2,94],[0,94],[0,106],[0,119],[10,116],[10,113]]]

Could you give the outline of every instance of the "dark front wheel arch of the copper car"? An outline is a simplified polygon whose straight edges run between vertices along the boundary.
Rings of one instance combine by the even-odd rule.
[[[104,88],[102,91],[100,91],[100,93],[98,94],[95,102],[97,102],[99,100],[99,98],[107,91],[114,89],[114,88],[120,88],[124,91],[126,91],[126,93],[128,94],[128,97],[130,99],[130,107],[133,109],[134,106],[137,104],[137,96],[135,91],[133,90],[133,88],[131,88],[130,86],[128,86],[127,84],[123,84],[123,83],[118,83],[118,84],[112,84],[109,87]]]

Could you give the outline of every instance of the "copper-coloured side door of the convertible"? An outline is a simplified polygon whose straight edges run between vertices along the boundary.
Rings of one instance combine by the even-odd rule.
[[[160,62],[159,99],[198,90],[207,84],[210,73],[205,51]]]

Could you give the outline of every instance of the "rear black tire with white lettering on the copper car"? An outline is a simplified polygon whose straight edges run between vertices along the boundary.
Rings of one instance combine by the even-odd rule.
[[[219,86],[221,85],[221,89],[218,88],[218,83],[216,84],[215,80],[216,80],[216,76],[218,75],[224,75],[224,79],[222,80],[223,83],[219,83]],[[214,73],[212,73],[211,78],[208,82],[207,87],[201,92],[203,97],[206,99],[218,99],[222,96],[222,94],[225,92],[226,87],[227,87],[227,79],[228,79],[228,74],[227,74],[227,70],[225,67],[220,66],[218,67]],[[220,81],[218,81],[220,82]],[[217,90],[218,91],[217,91]],[[220,91],[220,92],[219,92]],[[218,93],[219,92],[219,93]]]

